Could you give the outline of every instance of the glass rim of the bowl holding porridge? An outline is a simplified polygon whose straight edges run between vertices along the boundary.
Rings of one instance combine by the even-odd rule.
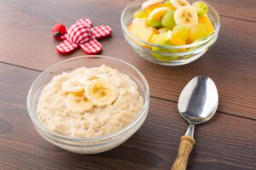
[[[78,137],[68,137],[68,136],[65,136],[65,135],[61,135],[59,133],[52,132],[49,129],[47,129],[46,127],[44,127],[44,125],[36,118],[37,113],[33,113],[32,109],[31,109],[32,106],[30,105],[30,99],[32,98],[32,88],[35,86],[35,83],[38,82],[38,80],[40,80],[40,78],[46,72],[49,72],[51,69],[55,68],[55,66],[62,65],[63,63],[67,63],[67,62],[69,62],[71,60],[86,59],[86,58],[88,58],[88,59],[90,59],[90,58],[91,59],[94,59],[94,58],[113,59],[113,60],[118,61],[119,63],[121,63],[123,65],[128,65],[131,69],[136,71],[137,74],[139,75],[139,77],[142,78],[143,83],[146,85],[146,87],[145,87],[146,88],[146,94],[144,94],[145,95],[145,99],[144,99],[143,109],[139,112],[139,114],[136,117],[136,119],[133,120],[133,122],[131,122],[129,125],[119,129],[118,131],[115,131],[113,133],[108,133],[108,134],[103,135],[103,136],[90,137],[90,138],[78,138]],[[84,65],[84,66],[86,66],[86,65]],[[106,55],[82,55],[82,56],[74,57],[74,58],[71,58],[71,59],[64,59],[61,62],[58,62],[58,63],[55,63],[54,65],[49,66],[45,71],[43,71],[41,74],[39,74],[38,77],[32,82],[32,86],[30,87],[29,92],[27,94],[27,97],[26,97],[26,109],[28,111],[28,115],[30,116],[33,124],[36,127],[38,127],[40,130],[42,130],[44,133],[47,133],[47,134],[49,134],[51,136],[54,136],[57,139],[63,139],[63,140],[75,141],[75,142],[97,142],[97,141],[98,142],[100,142],[100,141],[108,142],[108,139],[112,139],[112,138],[115,138],[115,137],[119,138],[119,135],[122,135],[123,133],[128,131],[131,127],[136,126],[137,122],[139,122],[143,118],[143,116],[145,114],[148,114],[147,110],[148,110],[148,106],[149,106],[149,99],[150,99],[150,89],[149,89],[148,81],[143,76],[143,73],[141,71],[139,71],[134,65],[131,65],[130,63],[128,63],[125,60],[116,59],[116,58],[109,57],[109,56],[106,56]]]

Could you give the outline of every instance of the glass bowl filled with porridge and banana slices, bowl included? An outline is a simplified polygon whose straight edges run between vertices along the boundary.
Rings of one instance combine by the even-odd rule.
[[[143,125],[149,87],[133,65],[102,55],[50,66],[32,83],[26,105],[38,133],[82,154],[111,150]]]

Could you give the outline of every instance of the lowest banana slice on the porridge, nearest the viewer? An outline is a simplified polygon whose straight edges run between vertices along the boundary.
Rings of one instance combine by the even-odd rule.
[[[84,94],[68,94],[65,105],[71,111],[84,112],[93,108],[93,103],[84,97]]]

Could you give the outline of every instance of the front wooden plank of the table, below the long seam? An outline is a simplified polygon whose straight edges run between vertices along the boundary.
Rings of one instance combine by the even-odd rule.
[[[151,98],[146,122],[125,144],[103,154],[77,155],[49,144],[32,126],[26,94],[39,73],[0,64],[1,169],[170,169],[188,127],[176,103]],[[218,112],[196,127],[188,169],[255,169],[255,126],[253,120]]]

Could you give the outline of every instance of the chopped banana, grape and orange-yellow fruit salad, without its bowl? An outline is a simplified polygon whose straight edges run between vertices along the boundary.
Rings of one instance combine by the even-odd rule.
[[[187,0],[148,0],[133,14],[127,30],[145,42],[160,46],[182,46],[201,41],[214,32],[208,16],[207,3]],[[137,44],[151,48],[140,42]],[[179,53],[187,48],[151,48],[155,52]],[[152,54],[160,61],[172,61],[178,57]],[[188,56],[189,58],[189,56]]]

